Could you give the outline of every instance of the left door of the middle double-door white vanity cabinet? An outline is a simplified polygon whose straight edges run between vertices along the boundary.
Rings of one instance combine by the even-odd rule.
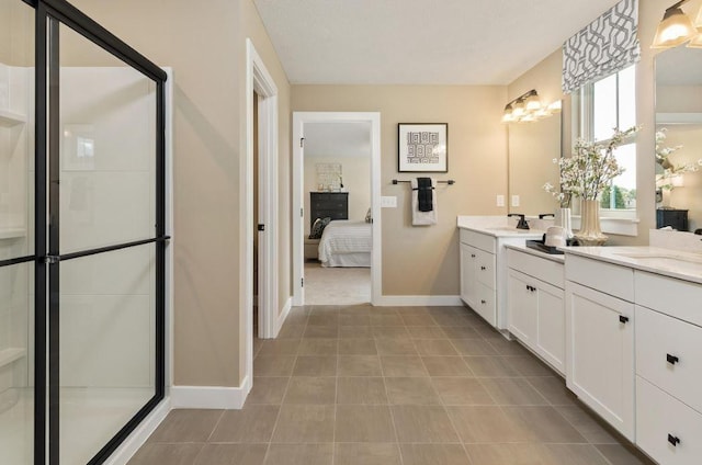
[[[509,331],[536,350],[536,286],[533,279],[509,270],[507,275],[507,308]]]

